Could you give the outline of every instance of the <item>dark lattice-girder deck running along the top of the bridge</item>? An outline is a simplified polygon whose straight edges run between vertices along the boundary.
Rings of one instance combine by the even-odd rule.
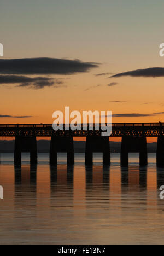
[[[82,125],[81,125],[82,127]],[[16,136],[36,136],[36,137],[51,137],[58,136],[73,136],[86,137],[89,135],[101,135],[102,130],[89,130],[87,124],[86,131],[66,131],[65,125],[63,131],[54,131],[52,124],[0,124],[0,137],[16,137]],[[110,137],[135,136],[135,137],[158,137],[164,135],[164,123],[113,123],[112,134]]]

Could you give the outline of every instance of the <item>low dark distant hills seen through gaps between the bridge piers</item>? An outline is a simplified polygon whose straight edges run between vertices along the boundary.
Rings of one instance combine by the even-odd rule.
[[[50,149],[50,141],[39,140],[37,141],[38,152],[46,153]],[[156,153],[157,143],[148,143],[148,153]],[[110,142],[110,150],[112,153],[120,153],[121,142]],[[75,153],[85,152],[85,141],[74,141],[74,151]],[[14,141],[0,141],[0,152],[1,153],[11,153],[14,152]]]

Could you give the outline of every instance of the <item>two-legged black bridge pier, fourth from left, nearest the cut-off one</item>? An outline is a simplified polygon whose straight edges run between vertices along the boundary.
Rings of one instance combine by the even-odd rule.
[[[139,152],[140,166],[148,165],[146,137],[123,136],[121,143],[121,166],[128,166],[128,153]]]

